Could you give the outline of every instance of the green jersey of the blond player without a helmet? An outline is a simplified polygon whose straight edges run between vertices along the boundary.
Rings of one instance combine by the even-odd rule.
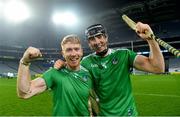
[[[43,74],[46,85],[53,92],[54,116],[88,116],[88,98],[91,76],[87,69],[79,71],[67,68],[49,69]]]

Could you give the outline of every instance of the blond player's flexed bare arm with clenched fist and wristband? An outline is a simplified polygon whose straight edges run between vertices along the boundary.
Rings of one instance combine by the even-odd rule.
[[[19,97],[27,99],[46,90],[46,83],[43,78],[31,80],[29,63],[32,59],[41,56],[38,49],[29,47],[21,59],[18,68],[17,94]]]

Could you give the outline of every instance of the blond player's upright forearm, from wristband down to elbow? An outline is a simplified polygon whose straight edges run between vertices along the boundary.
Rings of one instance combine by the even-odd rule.
[[[23,97],[30,90],[31,75],[29,65],[19,63],[18,77],[17,77],[17,93],[19,97]]]

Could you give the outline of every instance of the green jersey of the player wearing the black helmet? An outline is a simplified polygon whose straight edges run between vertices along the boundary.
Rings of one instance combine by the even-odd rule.
[[[81,61],[93,76],[100,115],[137,115],[130,81],[130,68],[135,57],[136,54],[128,49],[109,49],[106,57],[93,53]]]

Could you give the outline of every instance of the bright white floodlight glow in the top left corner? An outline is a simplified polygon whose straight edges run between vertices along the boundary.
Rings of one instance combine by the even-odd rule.
[[[21,0],[11,0],[4,6],[4,15],[8,21],[19,23],[28,19],[30,12]]]

